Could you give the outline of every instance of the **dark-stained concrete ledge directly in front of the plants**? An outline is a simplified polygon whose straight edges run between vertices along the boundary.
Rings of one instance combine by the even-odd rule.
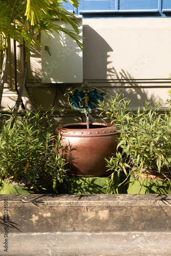
[[[2,234],[6,224],[9,233],[171,231],[170,195],[0,195],[0,202]]]

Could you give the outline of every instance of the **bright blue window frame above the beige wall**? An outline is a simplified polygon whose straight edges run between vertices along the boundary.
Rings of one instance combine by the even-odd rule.
[[[171,17],[171,0],[80,0],[77,9],[63,3],[68,11],[83,17]]]

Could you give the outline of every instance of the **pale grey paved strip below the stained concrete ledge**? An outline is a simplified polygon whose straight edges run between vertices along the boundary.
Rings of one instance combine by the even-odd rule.
[[[8,252],[3,240],[1,256],[171,255],[170,232],[10,233]]]

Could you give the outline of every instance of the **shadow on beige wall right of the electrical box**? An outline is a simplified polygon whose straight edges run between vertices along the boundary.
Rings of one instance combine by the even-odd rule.
[[[163,87],[163,84],[160,85],[159,83],[158,86],[156,86],[155,79],[152,79],[153,81],[146,81],[147,79],[144,78],[135,78],[136,74],[139,73],[141,69],[146,68],[151,59],[147,58],[146,55],[140,56],[138,61],[139,66],[135,65],[131,70],[121,69],[117,72],[113,65],[117,59],[112,59],[111,61],[110,58],[110,52],[117,51],[117,49],[111,47],[108,42],[89,25],[83,26],[83,37],[86,40],[83,50],[84,80],[90,81],[92,86],[107,88],[112,95],[123,93],[125,97],[131,99],[132,104],[136,108],[144,105],[145,99],[151,101],[152,105],[153,101],[160,101],[161,105],[165,104],[165,99],[163,100],[164,94],[161,95],[159,91],[156,96],[154,90],[156,90],[157,87],[162,87],[163,89],[165,88],[167,92],[169,84]],[[133,38],[133,40],[135,39]]]

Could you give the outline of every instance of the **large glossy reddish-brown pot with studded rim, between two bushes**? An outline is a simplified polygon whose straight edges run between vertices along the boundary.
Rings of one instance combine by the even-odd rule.
[[[106,123],[71,123],[58,126],[61,134],[61,153],[68,164],[67,174],[79,177],[109,175],[106,161],[116,153],[118,132],[116,126]]]

